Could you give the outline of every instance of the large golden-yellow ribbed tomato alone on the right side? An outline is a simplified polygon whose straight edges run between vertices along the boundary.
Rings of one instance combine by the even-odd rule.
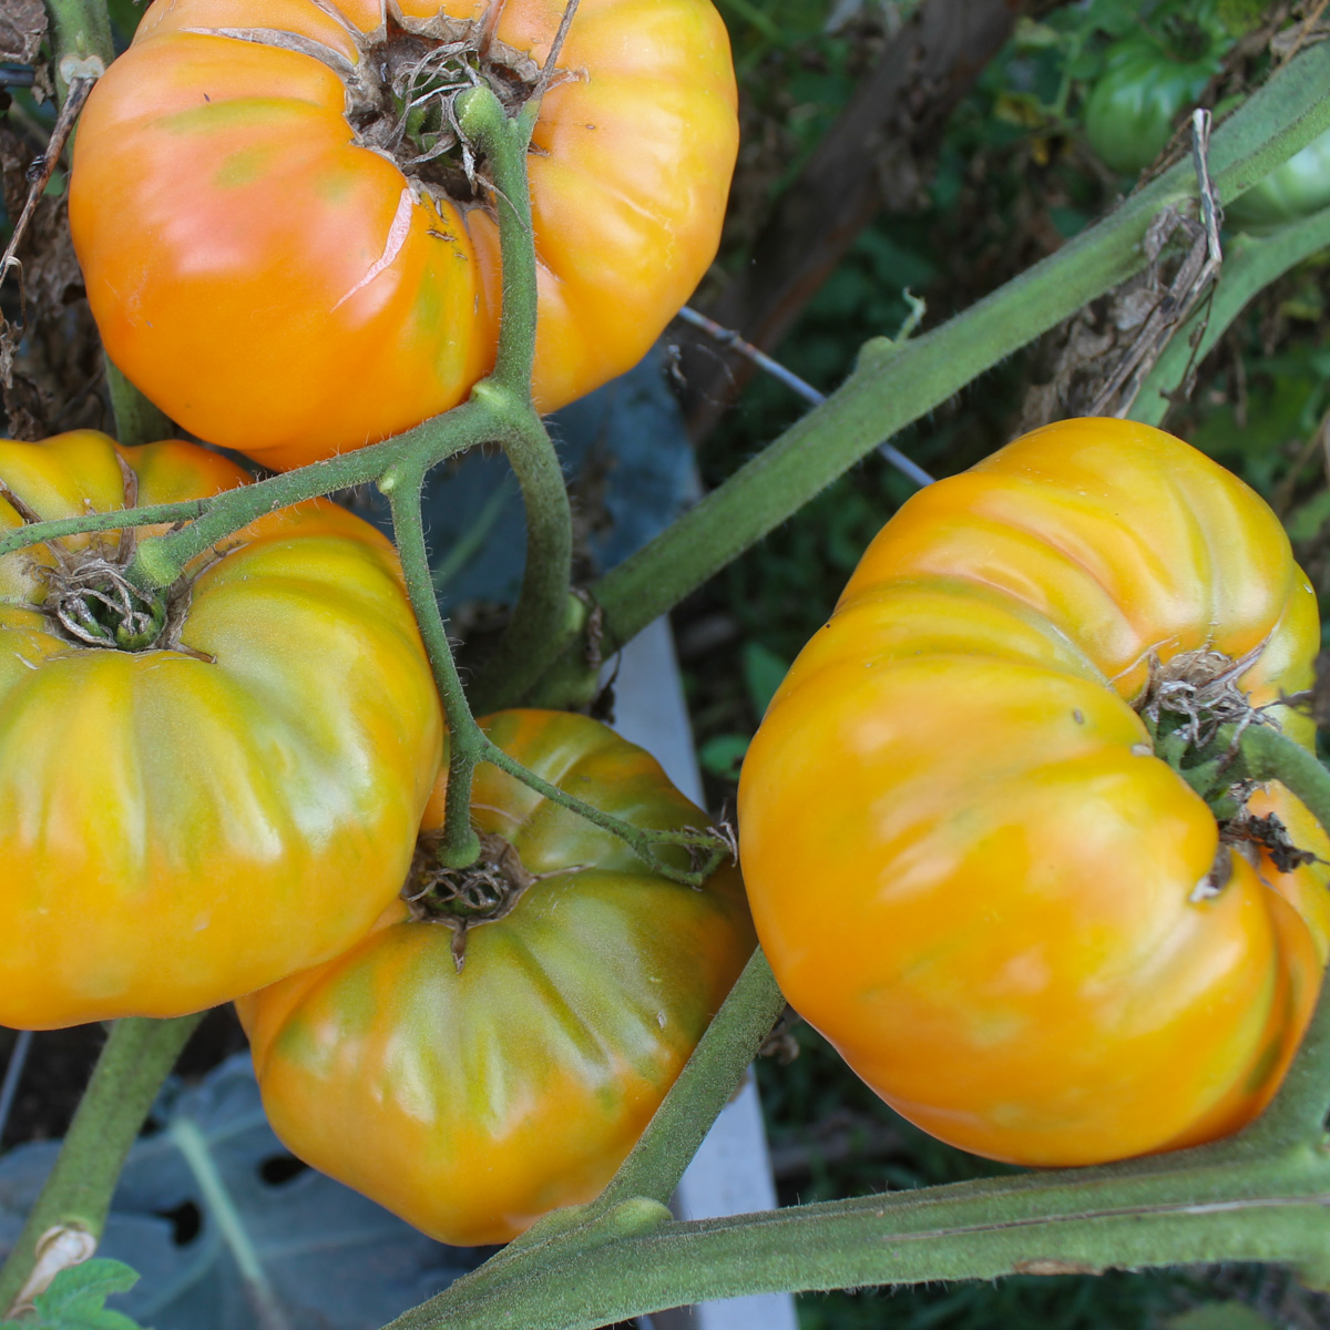
[[[743,874],[790,1001],[982,1154],[1089,1164],[1250,1120],[1318,991],[1330,843],[1271,785],[1248,813],[1322,862],[1281,872],[1242,819],[1221,846],[1140,709],[1238,662],[1310,747],[1278,702],[1318,637],[1270,509],[1157,430],[1068,420],[915,495],[743,766]]]

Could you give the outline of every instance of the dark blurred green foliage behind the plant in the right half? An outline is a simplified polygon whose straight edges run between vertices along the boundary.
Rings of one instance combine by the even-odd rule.
[[[745,137],[725,246],[694,302],[704,310],[753,261],[763,219],[783,192],[798,188],[855,86],[892,41],[908,40],[911,16],[924,4],[720,0],[720,8],[735,48]],[[884,202],[789,331],[762,342],[763,350],[830,392],[867,338],[896,332],[908,314],[906,291],[926,301],[923,326],[935,326],[1111,209],[1138,172],[1105,161],[1121,145],[1104,124],[1092,136],[1087,116],[1096,88],[1115,70],[1115,52],[1121,65],[1124,43],[1152,48],[1160,77],[1194,90],[1180,120],[1197,104],[1222,114],[1269,72],[1277,59],[1271,40],[1278,51],[1279,33],[1315,21],[1325,8],[1261,0],[1025,5],[948,116],[912,197]],[[1119,137],[1121,118],[1108,126]],[[1140,124],[1128,129],[1146,137]],[[1140,164],[1146,176],[1157,156],[1178,154],[1174,129],[1169,122]],[[1262,293],[1200,367],[1190,402],[1166,422],[1274,504],[1321,593],[1323,618],[1330,608],[1327,263],[1330,255],[1318,255]],[[892,442],[935,476],[1001,447],[1021,431],[1027,395],[1048,371],[1053,335],[1045,342]],[[722,480],[803,410],[789,388],[750,378],[724,415],[694,430],[704,483]],[[713,807],[733,807],[738,763],[771,693],[867,543],[912,489],[871,455],[676,610]],[[995,1170],[892,1115],[809,1027],[794,1024],[773,1044],[758,1077],[782,1202]],[[1330,1325],[1330,1301],[1282,1270],[1246,1266],[807,1295],[799,1315],[805,1330],[1260,1330]]]

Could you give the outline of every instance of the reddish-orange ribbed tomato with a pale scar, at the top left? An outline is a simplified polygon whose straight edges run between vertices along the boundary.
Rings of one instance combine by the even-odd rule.
[[[485,78],[516,106],[563,11],[158,0],[74,149],[70,227],[112,359],[200,438],[279,468],[466,398],[501,273],[447,96]],[[688,299],[738,134],[710,0],[583,0],[559,66],[528,158],[545,411],[634,364]]]

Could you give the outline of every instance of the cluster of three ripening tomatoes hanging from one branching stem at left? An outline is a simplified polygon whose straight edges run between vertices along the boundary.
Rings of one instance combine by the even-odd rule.
[[[464,399],[503,287],[450,109],[476,82],[511,113],[543,92],[536,403],[633,364],[716,251],[729,45],[709,0],[610,0],[544,70],[563,8],[153,5],[89,97],[70,184],[116,364],[277,468]],[[92,432],[0,443],[0,479],[7,528],[249,481],[194,444]],[[481,861],[443,871],[447,735],[391,544],[303,503],[154,596],[133,560],[160,533],[0,560],[0,1021],[239,999],[278,1133],[422,1229],[503,1241],[591,1200],[751,954],[737,871],[681,886],[492,766]],[[636,826],[705,821],[595,721],[483,725]]]

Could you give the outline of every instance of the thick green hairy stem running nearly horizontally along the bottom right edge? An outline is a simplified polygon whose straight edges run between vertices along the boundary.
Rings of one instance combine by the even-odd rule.
[[[681,1303],[785,1290],[1194,1261],[1311,1262],[1330,1241],[1330,1158],[1184,1150],[669,1222],[628,1202],[481,1267],[390,1330],[591,1330]],[[625,1218],[637,1232],[624,1232]],[[537,1278],[536,1271],[557,1271]]]

